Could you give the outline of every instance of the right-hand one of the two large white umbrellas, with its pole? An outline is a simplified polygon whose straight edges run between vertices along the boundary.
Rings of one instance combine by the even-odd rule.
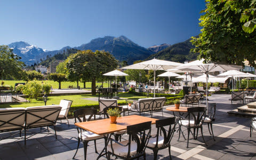
[[[208,75],[209,72],[214,71],[227,71],[232,69],[242,69],[242,66],[237,65],[223,65],[223,64],[217,64],[217,63],[203,63],[204,59],[196,60],[187,64],[184,64],[182,66],[176,67],[175,69],[179,70],[201,70],[206,74],[206,91],[208,89]],[[206,94],[206,108],[208,109],[208,94]]]

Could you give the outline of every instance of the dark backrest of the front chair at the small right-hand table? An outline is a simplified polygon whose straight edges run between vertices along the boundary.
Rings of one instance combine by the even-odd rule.
[[[199,127],[202,125],[202,119],[205,117],[206,107],[188,107],[188,119],[190,127],[190,119],[193,118],[193,127]],[[204,121],[204,119],[203,119]]]

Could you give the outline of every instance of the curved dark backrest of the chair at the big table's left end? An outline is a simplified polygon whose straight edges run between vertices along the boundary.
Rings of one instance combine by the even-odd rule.
[[[95,119],[95,114],[97,114],[97,110],[93,108],[77,109],[74,111],[75,123],[91,121],[92,116],[94,116],[94,119]],[[89,117],[87,117],[86,119],[86,116],[88,115]],[[81,117],[83,117],[83,119],[81,119]]]

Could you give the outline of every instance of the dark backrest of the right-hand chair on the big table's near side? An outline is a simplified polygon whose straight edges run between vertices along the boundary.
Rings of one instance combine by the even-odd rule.
[[[168,132],[166,133],[164,126],[168,126],[168,125],[169,125],[169,129],[167,130]],[[158,146],[158,136],[162,132],[163,133],[162,135],[164,137],[164,143],[162,148],[165,148],[170,144],[175,131],[175,117],[157,120],[156,127],[157,127],[156,146]]]

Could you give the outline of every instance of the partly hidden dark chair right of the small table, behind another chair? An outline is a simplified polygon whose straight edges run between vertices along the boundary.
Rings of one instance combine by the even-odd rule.
[[[212,130],[212,121],[214,120],[214,116],[215,116],[215,113],[216,113],[216,103],[209,103],[208,105],[209,105],[208,106],[208,115],[203,117],[203,123],[207,123],[209,133],[212,135],[213,140],[215,141],[215,138],[214,138],[214,135],[213,135],[213,130]],[[211,126],[211,131],[210,131],[210,126]]]

